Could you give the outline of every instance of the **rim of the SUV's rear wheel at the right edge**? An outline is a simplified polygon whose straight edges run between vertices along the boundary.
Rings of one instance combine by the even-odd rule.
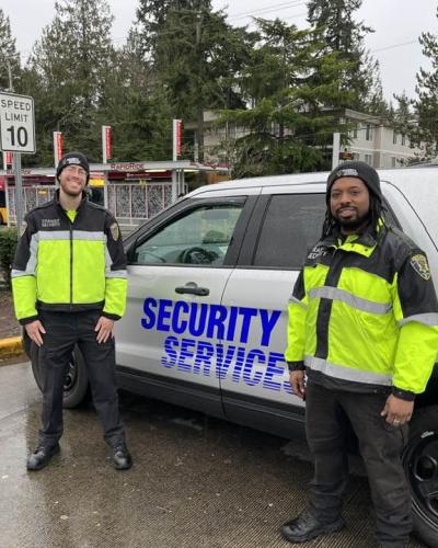
[[[414,510],[438,530],[438,432],[425,432],[412,439],[403,463]]]

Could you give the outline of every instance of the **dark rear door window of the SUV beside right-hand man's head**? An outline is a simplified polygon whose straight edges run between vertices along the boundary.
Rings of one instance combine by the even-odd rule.
[[[300,269],[321,238],[325,194],[278,194],[268,205],[254,265]]]

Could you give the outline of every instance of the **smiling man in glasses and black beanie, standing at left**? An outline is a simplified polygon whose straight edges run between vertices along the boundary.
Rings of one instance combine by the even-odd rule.
[[[57,167],[54,201],[30,212],[12,265],[15,313],[39,347],[43,413],[28,470],[59,453],[64,383],[74,345],[85,362],[94,407],[116,469],[130,468],[115,386],[114,322],[125,312],[126,256],[113,215],[87,199],[81,152]]]

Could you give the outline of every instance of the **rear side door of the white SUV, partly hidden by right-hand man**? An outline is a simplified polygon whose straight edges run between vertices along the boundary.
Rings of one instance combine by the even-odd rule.
[[[223,305],[246,309],[238,323],[237,352],[224,352],[221,375],[227,416],[239,422],[250,408],[266,411],[303,403],[292,396],[284,358],[287,306],[308,250],[320,239],[325,185],[266,187],[258,199],[243,252]]]

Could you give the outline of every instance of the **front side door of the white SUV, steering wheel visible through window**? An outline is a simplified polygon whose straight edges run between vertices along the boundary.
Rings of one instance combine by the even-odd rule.
[[[221,335],[223,288],[254,203],[254,196],[188,198],[140,229],[128,249],[118,367],[219,391],[206,339]]]

